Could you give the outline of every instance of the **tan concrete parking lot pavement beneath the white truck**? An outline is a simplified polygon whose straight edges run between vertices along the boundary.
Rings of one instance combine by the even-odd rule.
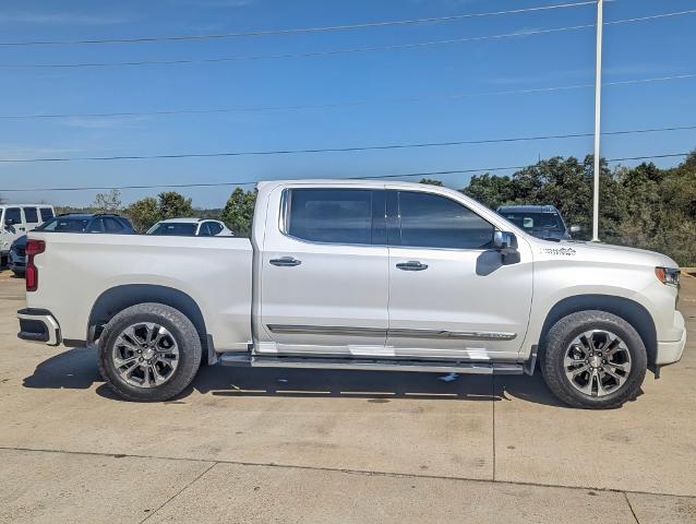
[[[219,367],[127,403],[92,349],[19,341],[23,303],[0,272],[0,522],[696,522],[693,277],[684,358],[605,412],[540,376]]]

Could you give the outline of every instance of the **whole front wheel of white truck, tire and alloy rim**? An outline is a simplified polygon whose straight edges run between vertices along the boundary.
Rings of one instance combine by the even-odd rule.
[[[640,335],[624,319],[605,311],[580,311],[549,330],[540,367],[547,385],[564,403],[608,409],[638,395],[647,360]]]

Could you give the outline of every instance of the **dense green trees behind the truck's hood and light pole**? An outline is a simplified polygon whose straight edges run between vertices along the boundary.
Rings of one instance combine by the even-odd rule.
[[[671,169],[653,164],[600,171],[599,235],[602,241],[663,252],[682,265],[696,264],[696,152]],[[475,176],[461,191],[496,207],[552,204],[589,238],[592,219],[592,156],[553,157],[512,177]]]

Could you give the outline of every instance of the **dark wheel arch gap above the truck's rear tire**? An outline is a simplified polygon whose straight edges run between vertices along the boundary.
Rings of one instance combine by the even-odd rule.
[[[104,325],[117,313],[131,306],[145,302],[163,303],[187,315],[199,333],[203,355],[207,355],[207,358],[203,360],[207,360],[208,364],[216,361],[213,341],[207,332],[205,319],[196,301],[180,289],[153,284],[119,285],[99,295],[89,312],[87,344],[93,344],[99,338]]]

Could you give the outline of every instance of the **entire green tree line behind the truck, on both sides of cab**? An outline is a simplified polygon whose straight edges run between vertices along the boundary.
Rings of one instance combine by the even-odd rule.
[[[476,175],[460,191],[495,209],[504,204],[555,205],[567,224],[589,239],[592,218],[592,156],[553,157],[512,176]],[[442,184],[422,179],[422,183]],[[675,167],[652,163],[610,169],[601,162],[600,238],[604,242],[665,253],[682,265],[696,265],[696,151]],[[91,211],[120,212],[139,231],[165,218],[199,216],[218,218],[238,236],[249,236],[256,192],[235,189],[221,210],[201,210],[191,199],[173,192],[145,198],[122,206],[120,193],[98,194]]]

